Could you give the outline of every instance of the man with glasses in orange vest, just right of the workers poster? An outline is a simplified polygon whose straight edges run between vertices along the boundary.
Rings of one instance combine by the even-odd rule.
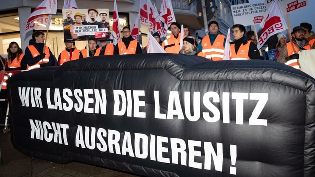
[[[130,28],[125,26],[122,33],[122,41],[119,41],[116,45],[118,47],[119,54],[141,54],[142,50],[140,44],[130,35]]]

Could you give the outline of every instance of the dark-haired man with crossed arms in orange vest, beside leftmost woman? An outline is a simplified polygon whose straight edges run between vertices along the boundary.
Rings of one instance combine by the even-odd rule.
[[[50,51],[49,47],[44,44],[45,33],[35,31],[32,34],[32,39],[34,43],[26,47],[22,59],[27,64],[27,70],[57,65],[55,56]]]

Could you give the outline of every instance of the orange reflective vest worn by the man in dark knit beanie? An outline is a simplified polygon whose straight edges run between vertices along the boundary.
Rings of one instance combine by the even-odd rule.
[[[206,35],[202,41],[202,52],[206,55],[207,59],[212,59],[214,61],[222,61],[224,55],[224,39],[225,36],[218,34],[213,45],[211,45],[209,35]]]

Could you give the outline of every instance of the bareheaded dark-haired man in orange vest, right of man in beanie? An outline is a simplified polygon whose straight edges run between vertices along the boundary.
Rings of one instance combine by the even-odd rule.
[[[234,42],[231,44],[231,60],[260,59],[256,44],[246,36],[246,29],[241,24],[232,27]]]

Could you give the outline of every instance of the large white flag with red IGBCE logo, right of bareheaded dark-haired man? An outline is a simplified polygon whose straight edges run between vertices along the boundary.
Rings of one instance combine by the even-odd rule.
[[[267,15],[260,23],[260,27],[262,27],[262,30],[257,44],[258,49],[262,47],[270,36],[287,29],[278,0],[272,2]]]

